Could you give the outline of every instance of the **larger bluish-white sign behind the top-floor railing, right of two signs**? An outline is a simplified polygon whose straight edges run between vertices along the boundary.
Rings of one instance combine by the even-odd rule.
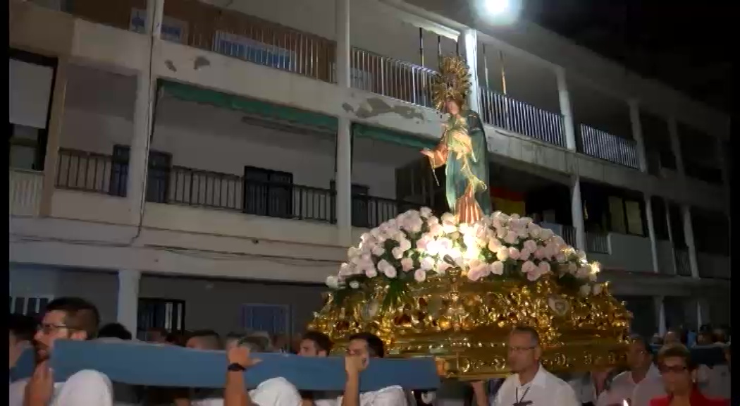
[[[214,35],[213,50],[222,55],[277,68],[290,67],[291,62],[296,60],[292,50],[223,31],[217,31]]]

